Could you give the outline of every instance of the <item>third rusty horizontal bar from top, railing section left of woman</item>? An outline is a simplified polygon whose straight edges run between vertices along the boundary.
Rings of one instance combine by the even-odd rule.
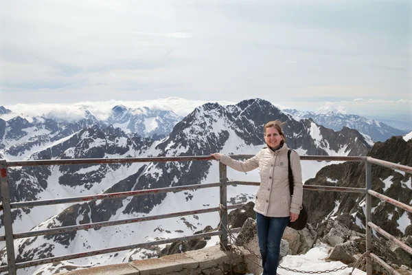
[[[242,206],[241,203],[235,204],[231,206],[231,209],[239,208],[240,206]],[[89,230],[93,228],[103,228],[106,226],[113,226],[113,225],[124,225],[128,223],[138,223],[142,221],[155,221],[158,219],[168,219],[168,218],[174,218],[174,217],[188,216],[192,214],[203,214],[203,213],[208,213],[208,212],[216,212],[218,210],[219,208],[215,207],[215,208],[205,208],[205,209],[191,210],[191,211],[185,211],[185,212],[159,214],[159,215],[153,215],[153,216],[148,216],[148,217],[138,217],[138,218],[133,218],[133,219],[121,219],[117,221],[102,221],[100,223],[87,223],[87,224],[82,224],[82,225],[65,226],[61,228],[52,228],[52,229],[46,229],[46,230],[16,233],[16,234],[13,234],[13,236],[14,236],[14,239],[22,239],[22,238],[29,238],[32,236],[63,234],[63,233],[78,231],[78,230]]]

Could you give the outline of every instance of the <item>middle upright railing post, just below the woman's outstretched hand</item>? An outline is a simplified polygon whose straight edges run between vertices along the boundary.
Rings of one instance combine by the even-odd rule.
[[[219,178],[220,183],[220,226],[219,230],[222,230],[220,235],[220,243],[224,249],[227,249],[227,166],[219,162]]]

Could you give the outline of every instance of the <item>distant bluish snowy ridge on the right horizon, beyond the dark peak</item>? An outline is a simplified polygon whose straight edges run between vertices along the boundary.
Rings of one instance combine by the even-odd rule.
[[[393,128],[385,123],[363,118],[359,115],[350,115],[328,111],[326,113],[297,111],[295,109],[283,109],[290,113],[296,120],[311,118],[315,123],[326,128],[340,131],[343,127],[356,129],[359,132],[369,135],[375,141],[383,142],[394,135],[404,135],[406,132]]]

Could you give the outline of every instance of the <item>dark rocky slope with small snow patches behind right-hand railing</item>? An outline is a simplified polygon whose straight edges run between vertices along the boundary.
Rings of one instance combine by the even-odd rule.
[[[376,142],[368,154],[370,157],[396,164],[412,166],[412,140],[391,137]],[[387,197],[410,205],[412,203],[412,178],[409,173],[383,166],[371,171],[372,189]],[[365,166],[345,162],[321,168],[307,185],[365,187]],[[309,223],[317,224],[334,217],[352,230],[365,229],[365,195],[343,192],[304,192],[304,200],[310,211]],[[393,236],[412,234],[412,217],[402,208],[380,199],[372,200],[372,222]]]

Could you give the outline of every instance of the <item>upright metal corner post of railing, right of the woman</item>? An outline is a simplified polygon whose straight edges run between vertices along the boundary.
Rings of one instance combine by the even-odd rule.
[[[368,161],[365,162],[365,181],[366,181],[366,251],[370,251],[372,249],[372,229],[368,225],[369,221],[371,221],[371,195],[369,194],[369,190],[372,188],[372,164]],[[372,274],[372,259],[369,255],[366,256],[366,274]]]

